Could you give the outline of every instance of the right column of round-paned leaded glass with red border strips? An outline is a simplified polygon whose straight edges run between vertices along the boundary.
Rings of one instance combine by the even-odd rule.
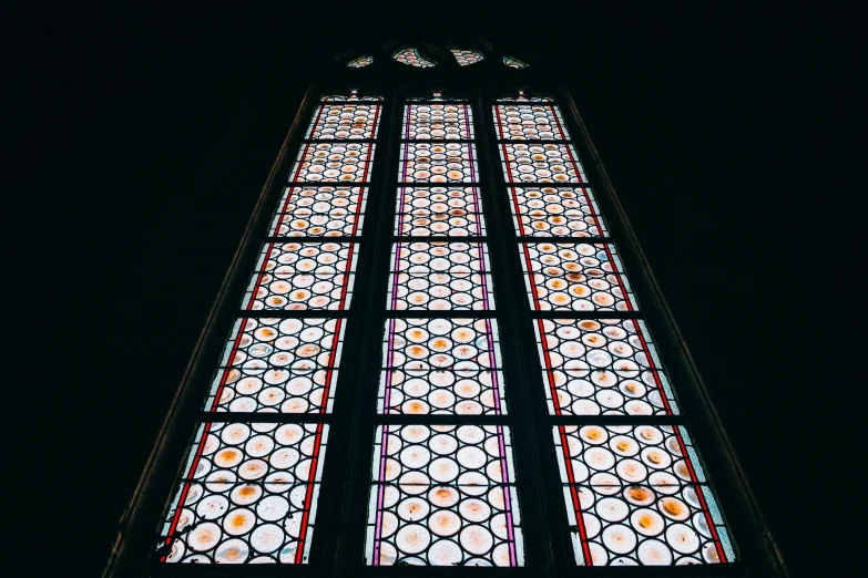
[[[576,564],[734,561],[686,429],[642,421],[678,405],[592,190],[565,186],[586,178],[560,107],[520,93],[492,116],[530,308],[563,313],[533,319],[549,413],[600,416],[551,424]]]

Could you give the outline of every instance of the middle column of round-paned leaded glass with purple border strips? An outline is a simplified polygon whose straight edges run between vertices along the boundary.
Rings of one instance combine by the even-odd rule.
[[[438,317],[494,308],[471,109],[410,99],[402,135],[387,310],[412,317],[385,320],[377,412],[406,421],[377,427],[366,561],[523,566],[510,429],[413,421],[507,413],[498,320]]]

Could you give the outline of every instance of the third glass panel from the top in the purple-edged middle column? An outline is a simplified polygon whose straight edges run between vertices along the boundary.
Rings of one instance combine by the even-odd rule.
[[[402,187],[395,220],[397,236],[481,236],[486,234],[477,187]]]

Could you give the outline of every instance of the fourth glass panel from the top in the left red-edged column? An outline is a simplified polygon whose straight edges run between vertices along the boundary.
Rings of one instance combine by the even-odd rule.
[[[348,308],[357,246],[355,242],[266,244],[242,308]]]

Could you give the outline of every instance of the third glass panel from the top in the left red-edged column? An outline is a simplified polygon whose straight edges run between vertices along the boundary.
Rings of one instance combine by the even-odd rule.
[[[272,220],[273,237],[341,237],[361,230],[364,187],[287,187]]]

